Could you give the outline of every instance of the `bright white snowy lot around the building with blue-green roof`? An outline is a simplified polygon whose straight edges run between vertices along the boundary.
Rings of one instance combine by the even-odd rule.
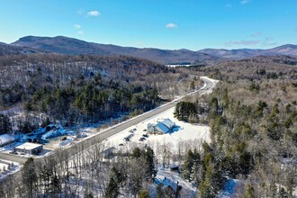
[[[118,146],[122,144],[128,147],[148,145],[151,148],[154,148],[154,150],[157,150],[157,148],[163,145],[168,146],[172,152],[176,153],[181,147],[181,143],[190,146],[190,148],[199,148],[203,141],[208,143],[211,142],[210,128],[208,126],[193,125],[184,121],[178,121],[174,117],[174,111],[175,108],[170,108],[166,112],[157,114],[146,121],[142,121],[135,126],[123,130],[108,139],[106,144],[111,146]],[[148,123],[157,123],[158,120],[166,118],[175,122],[175,129],[172,133],[166,133],[162,135],[148,135],[148,138],[145,140],[139,140],[144,134],[147,134],[147,132],[144,130],[147,129]],[[131,132],[131,130],[134,131]],[[125,141],[124,138],[128,137],[129,135],[132,135],[130,141]]]

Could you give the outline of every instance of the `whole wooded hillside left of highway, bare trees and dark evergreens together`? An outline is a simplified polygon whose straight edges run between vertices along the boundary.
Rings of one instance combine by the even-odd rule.
[[[0,67],[0,110],[23,132],[146,112],[199,84],[185,69],[122,56],[2,56]]]

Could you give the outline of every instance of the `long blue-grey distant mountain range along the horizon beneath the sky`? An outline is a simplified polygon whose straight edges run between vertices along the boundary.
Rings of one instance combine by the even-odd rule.
[[[0,55],[18,53],[60,53],[68,55],[97,54],[104,56],[126,55],[147,58],[163,64],[197,63],[206,60],[242,59],[257,56],[297,56],[297,45],[283,45],[273,49],[152,49],[130,48],[98,44],[63,36],[26,36],[12,44],[0,43]]]

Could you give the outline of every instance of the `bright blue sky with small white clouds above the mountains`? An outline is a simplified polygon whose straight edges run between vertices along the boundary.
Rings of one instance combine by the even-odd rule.
[[[297,0],[0,0],[0,41],[27,35],[160,49],[297,44]]]

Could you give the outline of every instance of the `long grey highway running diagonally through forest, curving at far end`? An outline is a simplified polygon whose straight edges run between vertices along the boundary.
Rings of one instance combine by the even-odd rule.
[[[201,79],[205,82],[205,84],[203,85],[202,88],[193,91],[190,94],[186,94],[185,96],[189,96],[189,95],[193,95],[193,94],[204,94],[205,92],[211,90],[214,87],[214,84],[212,83],[211,80],[209,80],[208,78],[205,77],[201,77]],[[89,148],[92,145],[94,145],[95,143],[102,141],[103,139],[108,139],[110,137],[112,137],[113,135],[121,132],[122,130],[125,130],[133,125],[138,124],[141,121],[145,121],[150,117],[153,117],[161,112],[165,112],[166,110],[172,108],[175,106],[175,103],[178,103],[180,101],[182,101],[184,99],[184,97],[178,98],[170,103],[166,103],[162,106],[157,107],[156,109],[149,111],[149,112],[145,112],[135,118],[132,118],[128,121],[122,122],[114,127],[112,127],[109,130],[104,130],[103,132],[99,132],[97,134],[95,134],[92,138],[89,139],[85,139],[83,141],[80,141],[78,143],[76,143],[76,145],[74,145],[73,147],[69,147],[69,148],[65,148],[69,151],[70,155],[71,153],[76,152],[76,147],[83,147],[83,148]],[[6,153],[0,153],[0,159],[6,159],[6,160],[10,160],[10,161],[14,161],[14,162],[18,162],[20,164],[24,164],[25,161],[27,160],[26,157],[20,157],[20,156],[16,156],[14,154],[6,154]],[[41,158],[35,158],[35,161],[37,160],[41,160]]]

